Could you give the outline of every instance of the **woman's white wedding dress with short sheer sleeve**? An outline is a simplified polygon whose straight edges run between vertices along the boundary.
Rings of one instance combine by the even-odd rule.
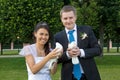
[[[40,62],[44,58],[44,57],[37,56],[35,44],[25,46],[19,54],[23,56],[32,54],[35,59],[35,63]],[[27,71],[28,71],[28,80],[51,80],[49,64],[50,62],[47,62],[46,65],[39,72],[37,72],[36,74],[33,74],[26,63]]]

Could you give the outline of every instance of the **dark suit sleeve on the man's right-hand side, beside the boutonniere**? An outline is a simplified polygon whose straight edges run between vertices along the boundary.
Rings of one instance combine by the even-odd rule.
[[[101,48],[98,44],[97,38],[93,30],[88,27],[88,46],[84,49],[85,58],[95,57],[101,55]]]

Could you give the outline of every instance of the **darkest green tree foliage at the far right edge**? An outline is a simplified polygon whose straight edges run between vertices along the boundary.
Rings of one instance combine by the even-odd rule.
[[[120,27],[120,0],[97,0],[96,2],[99,6],[99,22],[104,25],[104,39],[114,41],[115,29]]]

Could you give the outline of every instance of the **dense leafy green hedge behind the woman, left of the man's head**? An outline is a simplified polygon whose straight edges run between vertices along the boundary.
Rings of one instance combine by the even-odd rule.
[[[48,22],[50,29],[57,31],[61,29],[59,9],[62,4],[58,0],[1,1],[2,34],[9,38],[8,42],[17,40],[17,37],[21,42],[32,42],[32,32],[39,21]]]

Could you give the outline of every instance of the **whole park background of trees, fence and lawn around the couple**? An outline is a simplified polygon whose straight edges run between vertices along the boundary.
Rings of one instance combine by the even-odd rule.
[[[76,7],[77,25],[92,27],[103,50],[95,58],[102,80],[120,80],[120,0],[0,0],[1,80],[27,79],[24,58],[18,53],[33,43],[36,23],[46,21],[52,37],[64,28],[59,15],[64,5]],[[59,80],[60,67],[53,80]]]

